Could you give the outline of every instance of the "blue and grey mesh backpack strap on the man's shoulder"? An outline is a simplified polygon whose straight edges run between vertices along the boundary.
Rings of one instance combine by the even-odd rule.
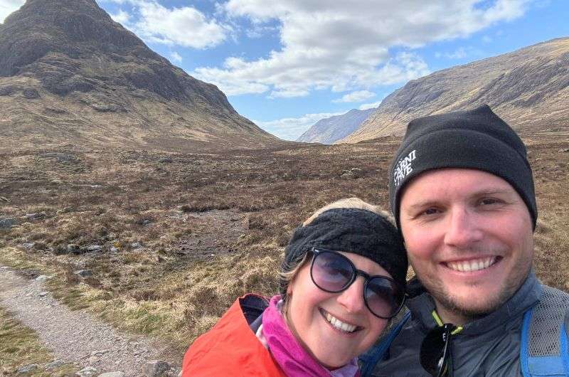
[[[523,314],[520,368],[523,377],[569,376],[565,312],[569,294],[543,286],[538,304]]]

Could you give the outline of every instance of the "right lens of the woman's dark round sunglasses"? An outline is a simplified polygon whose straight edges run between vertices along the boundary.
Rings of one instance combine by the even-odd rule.
[[[368,307],[379,317],[389,318],[396,314],[403,297],[403,290],[395,282],[383,277],[374,277],[366,287]]]

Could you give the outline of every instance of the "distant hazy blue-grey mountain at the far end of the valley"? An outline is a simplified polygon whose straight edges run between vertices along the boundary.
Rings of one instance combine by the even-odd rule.
[[[353,109],[343,115],[319,120],[300,135],[297,142],[332,144],[354,132],[375,110]]]

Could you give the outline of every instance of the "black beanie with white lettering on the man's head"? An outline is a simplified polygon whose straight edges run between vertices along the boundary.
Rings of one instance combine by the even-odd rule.
[[[389,170],[389,201],[398,226],[405,184],[424,171],[441,168],[478,169],[504,179],[526,203],[536,228],[538,211],[526,147],[488,105],[409,123]]]

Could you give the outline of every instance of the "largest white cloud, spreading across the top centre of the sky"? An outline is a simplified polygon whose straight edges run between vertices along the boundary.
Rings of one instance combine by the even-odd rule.
[[[403,83],[429,73],[413,48],[510,21],[523,15],[527,1],[229,0],[222,7],[230,17],[256,26],[276,23],[281,47],[257,60],[228,58],[192,75],[228,95],[270,97]],[[404,52],[393,56],[394,48]]]

